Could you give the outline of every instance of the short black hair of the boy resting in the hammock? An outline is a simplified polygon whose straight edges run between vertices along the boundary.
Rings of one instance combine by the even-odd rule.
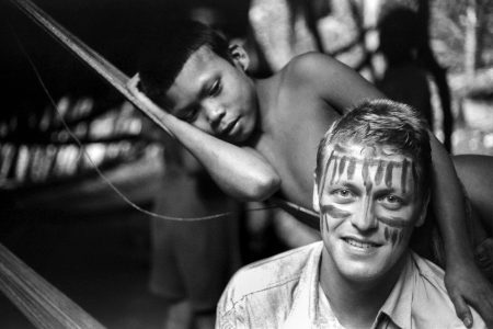
[[[226,37],[199,22],[161,25],[148,32],[145,38],[138,65],[140,88],[161,106],[165,106],[164,95],[186,60],[202,46],[208,46],[218,56],[231,60]]]

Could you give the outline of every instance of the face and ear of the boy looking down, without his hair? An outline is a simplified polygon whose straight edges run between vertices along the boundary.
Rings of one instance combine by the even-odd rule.
[[[223,140],[246,140],[255,128],[257,103],[244,73],[245,56],[233,53],[231,64],[207,46],[198,48],[167,92],[171,114]]]

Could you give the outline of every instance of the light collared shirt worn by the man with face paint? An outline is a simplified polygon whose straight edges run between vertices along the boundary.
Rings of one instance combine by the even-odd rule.
[[[323,242],[250,264],[234,274],[217,308],[216,328],[344,328],[320,286]],[[444,271],[410,252],[372,328],[466,328],[444,285]],[[473,328],[485,328],[472,310]]]

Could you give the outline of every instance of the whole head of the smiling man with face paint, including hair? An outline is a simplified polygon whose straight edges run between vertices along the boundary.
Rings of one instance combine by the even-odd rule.
[[[355,281],[398,270],[429,197],[425,121],[411,106],[366,101],[334,123],[317,157],[313,207],[332,268]]]

